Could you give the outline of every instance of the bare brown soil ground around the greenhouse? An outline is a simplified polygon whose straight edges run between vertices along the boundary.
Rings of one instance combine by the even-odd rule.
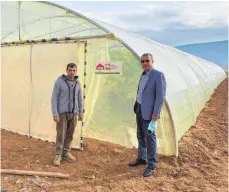
[[[77,162],[53,167],[55,146],[2,131],[2,168],[71,174],[69,180],[2,175],[9,191],[228,191],[228,83],[222,82],[179,142],[179,158],[158,156],[154,176],[129,168],[136,149],[85,139]]]

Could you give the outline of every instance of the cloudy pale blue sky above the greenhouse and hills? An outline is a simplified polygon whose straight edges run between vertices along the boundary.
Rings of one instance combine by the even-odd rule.
[[[228,2],[58,1],[159,43],[177,46],[228,39]]]

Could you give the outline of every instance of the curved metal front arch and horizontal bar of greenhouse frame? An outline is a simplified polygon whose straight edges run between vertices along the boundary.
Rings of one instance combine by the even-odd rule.
[[[113,39],[113,40],[117,40],[119,41],[121,44],[123,44],[127,49],[129,49],[132,54],[140,61],[140,58],[141,56],[139,56],[136,51],[134,51],[127,43],[125,43],[122,39],[120,39],[119,37],[115,36],[115,34],[108,30],[107,28],[103,27],[102,25],[98,24],[97,22],[93,21],[92,19],[88,18],[88,17],[85,17],[84,15],[70,9],[70,8],[66,8],[62,5],[58,5],[58,4],[55,4],[55,3],[52,3],[52,2],[46,2],[46,1],[38,1],[40,3],[44,3],[44,4],[47,4],[47,5],[51,5],[51,6],[54,6],[54,7],[58,7],[60,9],[63,9],[63,10],[66,10],[78,17],[81,17],[85,20],[87,20],[88,22],[94,24],[95,26],[99,27],[100,29],[104,30],[107,34],[104,34],[104,35],[97,35],[97,36],[85,36],[85,37],[77,37],[77,38],[73,38],[73,37],[66,37],[66,38],[58,38],[58,40],[84,40],[84,39],[94,39],[94,38],[110,38],[110,39]],[[20,31],[20,30],[19,30]],[[55,39],[57,38],[52,38],[52,40],[55,41]],[[42,40],[40,40],[42,41]],[[19,40],[19,41],[15,41],[15,42],[12,42],[12,43],[7,43],[7,42],[4,42],[5,45],[7,44],[23,44],[23,43],[35,43],[35,42],[40,42],[39,40]],[[175,135],[175,149],[176,149],[176,156],[178,156],[178,141],[177,141],[177,131],[176,131],[176,128],[175,128],[175,123],[174,123],[174,119],[173,119],[173,116],[172,116],[172,113],[171,113],[171,109],[170,109],[170,106],[169,106],[169,103],[167,101],[167,98],[165,97],[165,106],[166,106],[166,109],[168,110],[168,113],[169,113],[169,116],[170,116],[170,119],[171,119],[171,123],[172,123],[172,129],[174,131],[174,135]]]

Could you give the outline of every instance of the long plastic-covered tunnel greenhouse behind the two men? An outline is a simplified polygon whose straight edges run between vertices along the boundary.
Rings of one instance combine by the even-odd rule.
[[[226,77],[214,63],[50,2],[1,2],[1,12],[2,129],[54,142],[52,89],[74,62],[85,122],[78,124],[72,146],[82,149],[87,137],[137,147],[139,58],[151,53],[167,81],[158,153],[178,155],[178,141]],[[121,71],[96,73],[101,63],[119,63]]]

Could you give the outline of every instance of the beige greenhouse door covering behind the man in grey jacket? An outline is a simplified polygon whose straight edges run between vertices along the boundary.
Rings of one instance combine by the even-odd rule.
[[[3,45],[2,128],[55,142],[51,112],[54,82],[65,74],[68,63],[76,63],[84,93],[85,46],[83,41]],[[76,130],[73,146],[80,149],[80,123]]]

